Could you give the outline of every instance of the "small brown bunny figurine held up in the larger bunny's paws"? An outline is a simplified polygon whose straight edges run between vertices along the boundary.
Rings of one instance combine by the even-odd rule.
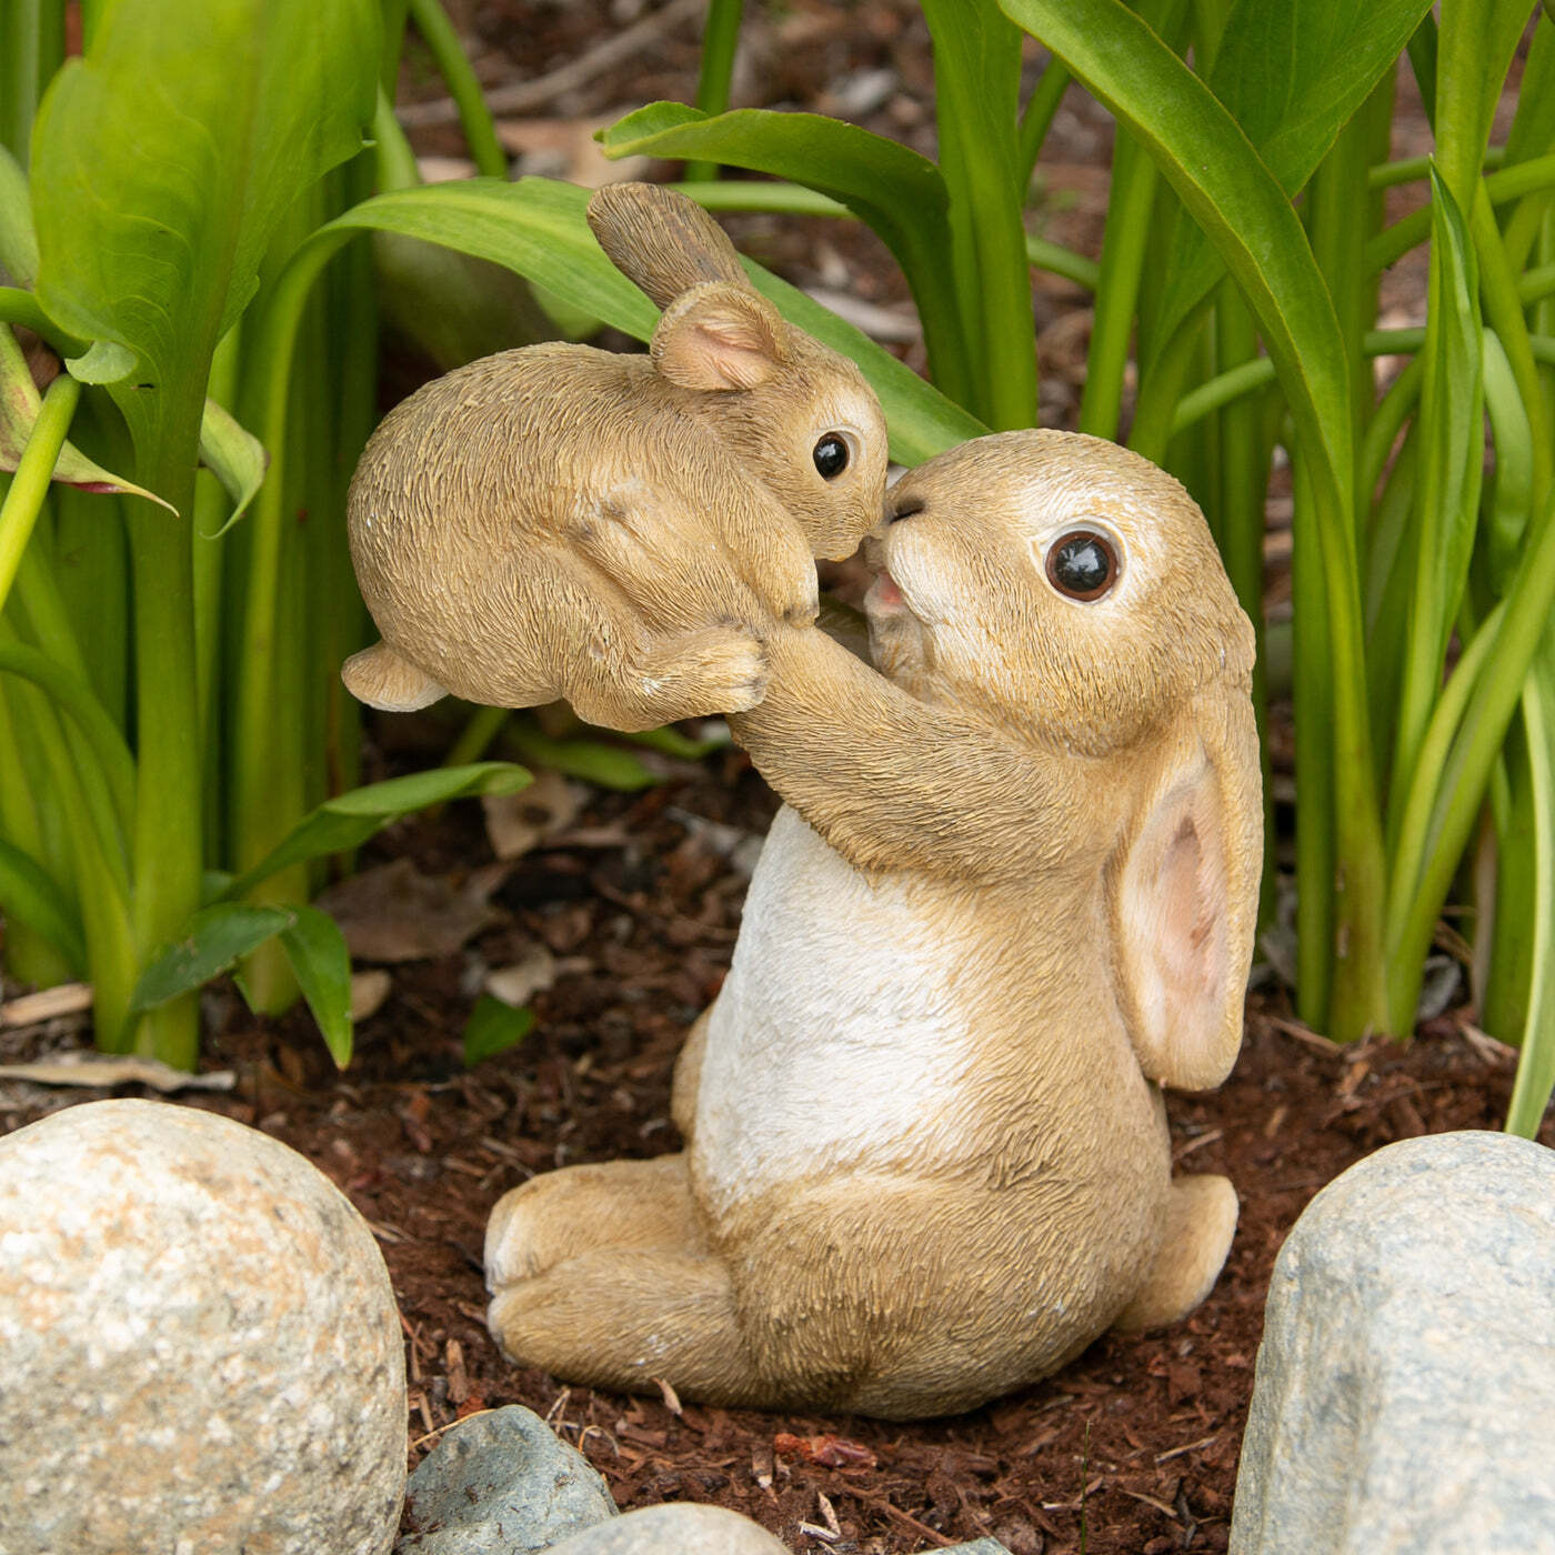
[[[589,202],[664,314],[648,356],[533,345],[411,395],[367,445],[348,527],[383,642],[353,695],[564,697],[616,729],[753,706],[754,625],[816,613],[813,557],[880,518],[886,431],[852,362],[793,328],[698,205]]]

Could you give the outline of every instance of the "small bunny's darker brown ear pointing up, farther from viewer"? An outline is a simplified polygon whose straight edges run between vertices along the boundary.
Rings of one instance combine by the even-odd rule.
[[[750,286],[723,229],[695,202],[656,183],[606,183],[588,224],[610,263],[659,308],[701,281]]]

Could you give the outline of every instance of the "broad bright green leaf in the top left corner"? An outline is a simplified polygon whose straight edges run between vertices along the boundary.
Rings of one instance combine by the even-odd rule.
[[[277,222],[361,148],[379,45],[373,0],[118,0],[54,78],[33,134],[37,294],[140,359],[115,398],[142,457],[193,437]]]

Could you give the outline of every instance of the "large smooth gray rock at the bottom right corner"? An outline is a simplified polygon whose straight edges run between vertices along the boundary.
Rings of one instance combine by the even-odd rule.
[[[1233,1555],[1555,1552],[1555,1152],[1390,1144],[1275,1263]]]

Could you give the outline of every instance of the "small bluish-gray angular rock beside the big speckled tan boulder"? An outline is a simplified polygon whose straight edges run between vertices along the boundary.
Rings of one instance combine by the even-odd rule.
[[[406,1504],[397,1555],[532,1555],[616,1515],[588,1459],[518,1404],[448,1431]]]

